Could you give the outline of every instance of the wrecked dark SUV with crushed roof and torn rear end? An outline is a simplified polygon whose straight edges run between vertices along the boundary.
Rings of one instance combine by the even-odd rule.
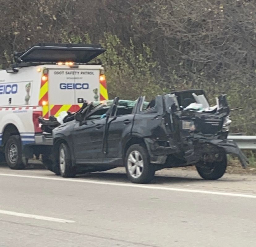
[[[226,96],[210,107],[202,90],[173,92],[136,101],[90,103],[75,119],[53,130],[54,163],[62,177],[125,166],[130,181],[148,183],[163,168],[196,165],[204,179],[223,176],[226,154],[246,157],[226,140]]]

